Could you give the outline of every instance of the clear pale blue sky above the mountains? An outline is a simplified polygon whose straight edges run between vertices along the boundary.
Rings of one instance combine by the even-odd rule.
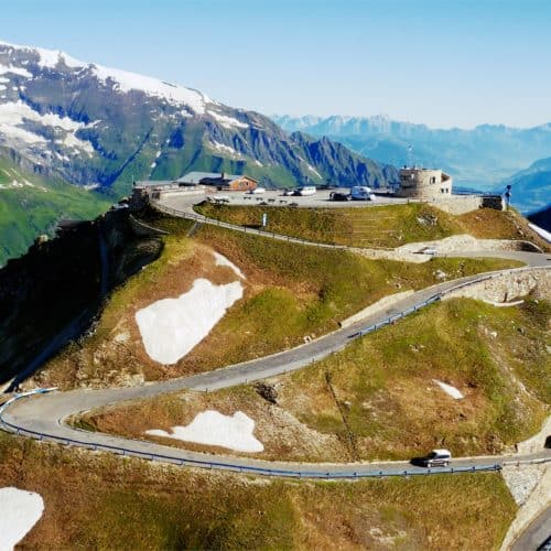
[[[551,121],[549,0],[0,0],[0,22],[267,115]]]

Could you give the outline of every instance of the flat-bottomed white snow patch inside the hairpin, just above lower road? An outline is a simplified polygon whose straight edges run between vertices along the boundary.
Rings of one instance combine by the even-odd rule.
[[[224,415],[207,410],[198,413],[187,426],[173,426],[171,432],[153,429],[145,431],[145,434],[222,446],[236,452],[262,452],[264,446],[253,436],[253,430],[255,421],[242,411]]]

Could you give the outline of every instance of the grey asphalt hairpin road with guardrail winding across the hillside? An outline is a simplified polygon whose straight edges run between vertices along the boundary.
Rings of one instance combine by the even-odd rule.
[[[216,220],[207,219],[205,222],[219,225]],[[242,228],[231,225],[224,225],[224,227],[228,227],[229,229],[238,228],[242,231]],[[285,236],[269,235],[268,237],[288,240]],[[520,260],[532,268],[551,268],[551,258],[543,253],[468,251],[462,253],[462,256],[508,258]],[[503,273],[529,269],[501,270],[440,283],[417,291],[395,303],[391,309],[367,316],[352,326],[335,331],[311,343],[214,371],[128,388],[104,390],[79,389],[67,392],[48,392],[32,397],[21,397],[21,399],[11,401],[8,406],[0,408],[0,426],[18,434],[44,441],[60,442],[66,445],[108,451],[121,455],[133,455],[175,464],[251,472],[271,476],[356,478],[381,475],[426,475],[431,472],[450,473],[499,469],[506,464],[517,464],[519,462],[548,462],[551,461],[551,450],[541,450],[538,453],[529,455],[458,458],[453,460],[451,467],[433,469],[415,467],[407,462],[347,464],[269,462],[249,457],[190,452],[154,442],[82,431],[67,424],[67,419],[72,415],[127,400],[150,398],[183,389],[196,391],[217,390],[300,369],[332,353],[343,349],[352,338],[357,337],[363,332],[365,333],[366,328],[370,332],[388,323],[393,323],[400,317],[440,300],[457,287],[468,285]]]

